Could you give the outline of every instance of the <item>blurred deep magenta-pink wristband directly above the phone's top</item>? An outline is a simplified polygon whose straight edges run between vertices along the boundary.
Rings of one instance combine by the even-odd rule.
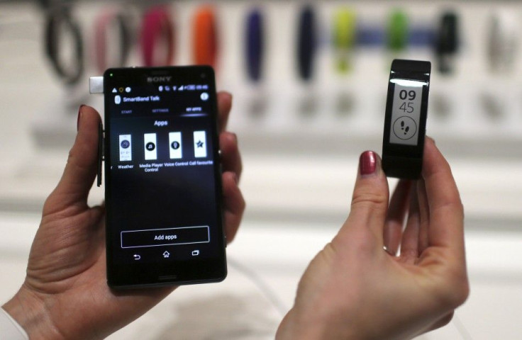
[[[145,13],[140,41],[145,66],[172,64],[174,60],[174,25],[167,8],[155,6]]]

